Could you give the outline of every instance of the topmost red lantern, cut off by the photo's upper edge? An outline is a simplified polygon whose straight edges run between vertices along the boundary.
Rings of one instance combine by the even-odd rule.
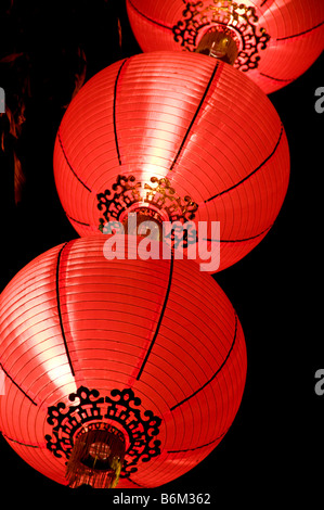
[[[322,0],[126,3],[131,28],[143,51],[199,51],[223,58],[230,50],[234,66],[247,73],[265,93],[294,81],[323,51]]]

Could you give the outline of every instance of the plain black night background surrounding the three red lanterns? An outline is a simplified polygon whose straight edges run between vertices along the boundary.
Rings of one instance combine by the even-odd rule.
[[[18,141],[8,135],[1,118],[5,152],[0,151],[0,290],[37,255],[77,237],[56,195],[54,138],[74,90],[78,48],[87,56],[87,79],[141,52],[125,2],[115,3],[1,2],[0,59],[20,52],[24,56],[13,65],[0,64],[0,86],[12,107],[26,75],[31,93],[25,98],[26,122]],[[321,500],[324,396],[315,395],[314,373],[323,366],[324,114],[314,110],[314,93],[324,86],[323,62],[322,54],[303,76],[270,95],[290,146],[288,193],[265,239],[243,260],[213,277],[233,303],[246,336],[248,373],[237,417],[221,444],[194,470],[155,490],[124,494],[209,493],[213,505],[230,508],[267,501],[295,503],[301,496]],[[18,205],[12,149],[26,177]],[[11,503],[22,495],[25,502],[33,502],[43,489],[54,505],[64,498],[85,506],[108,505],[120,494],[119,489],[107,494],[63,487],[28,467],[2,438],[0,487],[2,497],[11,496]]]

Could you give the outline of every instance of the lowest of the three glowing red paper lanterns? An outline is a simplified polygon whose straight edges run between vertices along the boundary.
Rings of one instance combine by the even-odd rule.
[[[229,430],[245,384],[244,334],[197,264],[107,260],[108,239],[56,246],[2,292],[0,428],[60,484],[105,486],[113,451],[125,456],[118,488],[154,487]]]

